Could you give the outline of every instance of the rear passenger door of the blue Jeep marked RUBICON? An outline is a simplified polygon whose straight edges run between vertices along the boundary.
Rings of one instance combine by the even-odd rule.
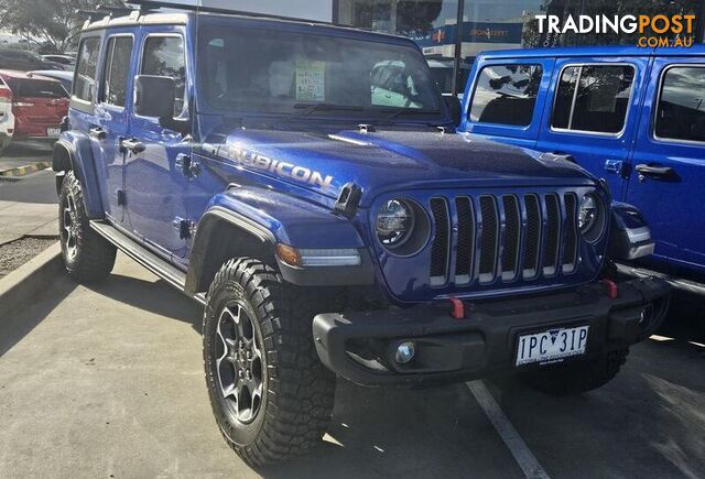
[[[132,78],[128,74],[133,55],[134,36],[128,32],[110,32],[106,36],[98,98],[89,127],[94,159],[102,173],[106,214],[120,225],[124,220],[124,153],[120,142],[129,123],[128,91]]]

